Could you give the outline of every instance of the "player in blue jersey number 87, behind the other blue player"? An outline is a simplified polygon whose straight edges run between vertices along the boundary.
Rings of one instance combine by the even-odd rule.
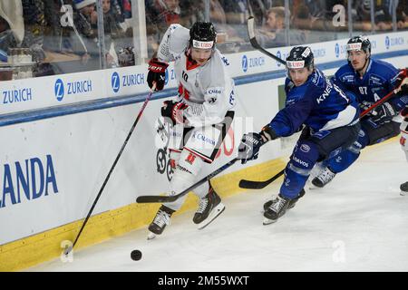
[[[403,70],[400,72],[391,63],[371,58],[371,43],[364,36],[355,36],[348,41],[347,54],[348,63],[335,73],[333,81],[344,91],[354,92],[363,110],[381,100],[403,81]],[[353,164],[364,147],[397,136],[401,124],[398,113],[406,104],[408,95],[400,92],[363,117],[358,140],[348,150],[324,162],[320,173],[312,180],[313,185],[323,188],[335,178],[335,174]]]

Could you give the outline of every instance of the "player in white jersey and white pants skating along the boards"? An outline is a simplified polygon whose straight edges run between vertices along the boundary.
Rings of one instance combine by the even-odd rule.
[[[170,195],[178,194],[198,181],[205,163],[211,163],[233,119],[234,82],[227,73],[228,62],[215,47],[217,33],[210,23],[195,23],[191,29],[170,25],[159,51],[149,63],[148,83],[160,91],[165,84],[168,63],[174,61],[179,82],[175,101],[166,101],[161,116],[172,126],[170,164],[174,169]],[[225,209],[221,198],[205,183],[194,189],[199,208],[193,222],[199,229],[209,225]],[[186,196],[163,204],[149,226],[149,239],[160,235],[170,224],[171,215],[182,206]]]

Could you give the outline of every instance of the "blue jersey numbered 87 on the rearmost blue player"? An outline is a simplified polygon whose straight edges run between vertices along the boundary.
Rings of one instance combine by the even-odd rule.
[[[354,92],[358,102],[373,104],[393,91],[398,73],[393,64],[370,59],[363,78],[347,63],[338,69],[332,81],[343,91]],[[390,102],[400,111],[408,104],[408,96],[393,97]]]

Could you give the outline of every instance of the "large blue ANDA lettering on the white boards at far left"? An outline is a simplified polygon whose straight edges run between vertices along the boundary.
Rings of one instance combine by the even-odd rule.
[[[53,157],[34,157],[29,160],[4,164],[0,171],[0,210],[16,204],[44,198],[50,193],[58,193]]]

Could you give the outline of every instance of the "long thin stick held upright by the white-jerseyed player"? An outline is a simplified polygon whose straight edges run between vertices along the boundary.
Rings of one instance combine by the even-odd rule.
[[[121,158],[121,153],[125,149],[126,145],[128,144],[128,141],[131,139],[131,134],[133,133],[134,129],[136,128],[136,125],[138,124],[139,120],[141,119],[141,115],[146,108],[148,102],[151,100],[151,95],[153,94],[156,86],[153,85],[151,88],[151,92],[149,92],[148,96],[146,97],[146,100],[143,102],[143,105],[141,106],[141,111],[139,111],[139,115],[136,118],[136,121],[133,122],[133,125],[131,126],[131,131],[129,131],[128,136],[126,137],[126,140],[124,141],[123,145],[121,145],[121,150],[119,151],[118,156],[116,156],[116,159],[114,160],[111,169],[109,170],[108,175],[106,176],[105,180],[103,181],[102,188],[99,190],[98,195],[96,196],[95,200],[93,201],[92,208],[89,210],[88,215],[86,216],[85,220],[83,221],[83,226],[81,227],[78,235],[75,237],[75,240],[73,241],[73,246],[67,247],[64,251],[65,255],[68,255],[72,250],[73,247],[75,247],[76,243],[78,242],[79,237],[81,237],[81,234],[83,232],[83,227],[85,227],[86,223],[88,222],[88,219],[92,215],[93,208],[95,208],[96,203],[98,202],[99,198],[101,198],[102,191],[105,188],[106,184],[108,183],[109,178],[111,177],[112,171],[115,168],[116,164],[118,163],[119,159]]]

